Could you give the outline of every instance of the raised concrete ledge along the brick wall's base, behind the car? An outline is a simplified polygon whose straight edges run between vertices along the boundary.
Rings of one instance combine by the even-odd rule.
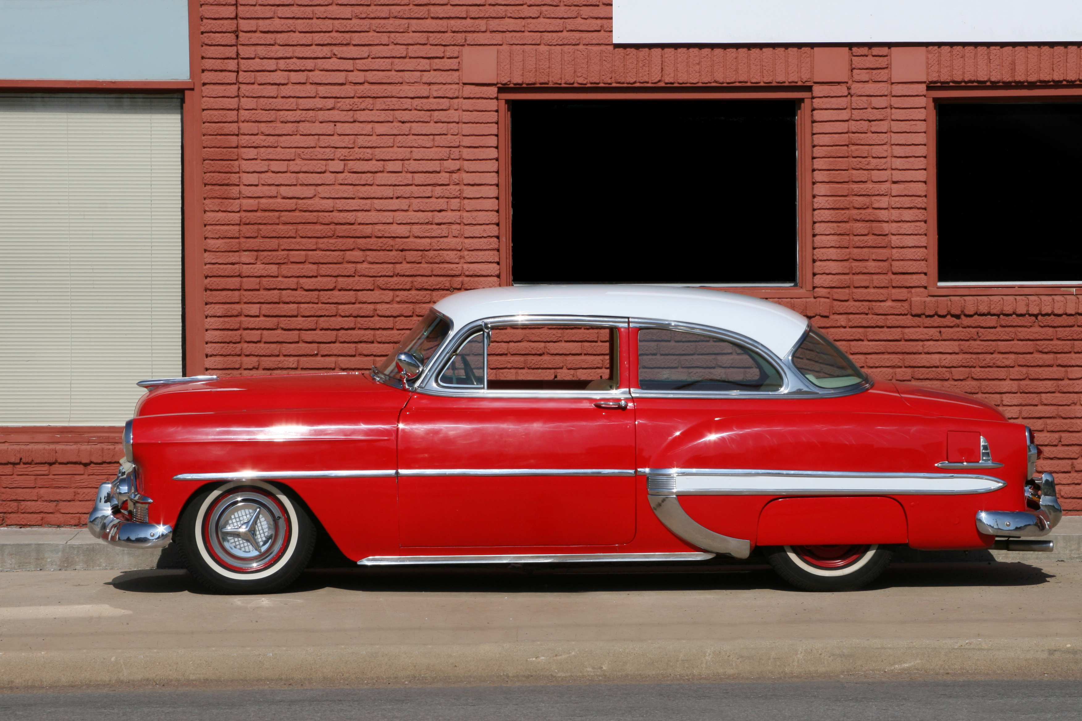
[[[905,552],[898,561],[965,562],[1020,561],[1047,563],[1082,561],[1082,516],[1065,518],[1053,530],[1052,553],[1017,551]],[[183,568],[172,546],[161,550],[131,550],[97,540],[85,529],[0,529],[0,571],[92,571],[114,569]]]

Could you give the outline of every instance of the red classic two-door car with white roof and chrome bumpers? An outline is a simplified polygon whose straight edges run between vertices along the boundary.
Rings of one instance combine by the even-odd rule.
[[[360,565],[754,551],[835,590],[895,546],[1051,550],[1061,515],[1026,426],[717,291],[467,291],[370,374],[140,385],[89,528],[223,592],[291,583],[319,533]]]

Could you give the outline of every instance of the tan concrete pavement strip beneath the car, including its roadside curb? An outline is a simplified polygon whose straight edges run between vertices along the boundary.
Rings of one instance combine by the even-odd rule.
[[[1077,679],[1080,591],[1070,561],[895,564],[849,593],[749,566],[309,571],[266,597],[10,573],[0,689]]]

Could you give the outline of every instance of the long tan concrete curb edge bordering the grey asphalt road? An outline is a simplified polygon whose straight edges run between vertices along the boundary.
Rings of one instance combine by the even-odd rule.
[[[650,641],[0,654],[0,689],[869,679],[1082,679],[1082,640]]]

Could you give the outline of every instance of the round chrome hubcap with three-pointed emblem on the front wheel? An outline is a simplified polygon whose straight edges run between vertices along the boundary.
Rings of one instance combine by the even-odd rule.
[[[278,505],[248,490],[220,498],[211,509],[207,531],[222,561],[249,570],[277,556],[288,535]]]

